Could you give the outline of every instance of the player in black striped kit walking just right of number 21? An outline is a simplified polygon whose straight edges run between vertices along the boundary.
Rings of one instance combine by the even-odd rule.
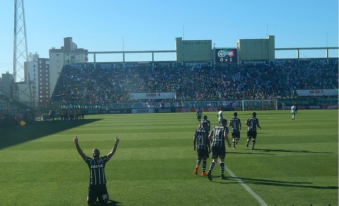
[[[226,127],[227,120],[223,119],[221,121],[221,125],[216,126],[213,128],[211,133],[208,135],[208,139],[212,142],[211,150],[212,150],[212,159],[209,166],[209,170],[207,172],[208,180],[212,181],[212,170],[216,163],[218,162],[218,157],[220,158],[220,179],[226,180],[226,176],[224,175],[225,172],[225,156],[226,156],[226,147],[225,147],[225,140],[228,143],[228,147],[231,146],[231,143],[228,140],[228,128]],[[213,140],[212,140],[213,136]]]

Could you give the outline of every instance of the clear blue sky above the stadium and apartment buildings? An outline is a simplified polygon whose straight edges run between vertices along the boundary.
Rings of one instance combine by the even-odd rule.
[[[90,52],[175,50],[176,37],[236,47],[238,39],[268,34],[275,36],[276,48],[338,47],[339,39],[338,0],[25,0],[24,5],[28,52],[41,58],[49,58],[52,47],[63,46],[64,37]],[[12,74],[13,0],[1,4],[0,17],[0,74]],[[276,52],[276,57],[295,54]],[[338,50],[330,56],[338,57]],[[306,51],[300,57],[325,57],[325,51]],[[96,60],[115,59],[122,57]],[[126,56],[126,61],[149,60],[151,54]],[[155,60],[175,56],[155,54]]]

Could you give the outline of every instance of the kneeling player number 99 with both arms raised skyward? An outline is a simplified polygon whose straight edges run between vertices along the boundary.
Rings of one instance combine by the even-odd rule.
[[[88,186],[88,195],[87,195],[87,204],[93,205],[97,198],[101,205],[107,204],[110,196],[107,192],[106,187],[106,176],[105,176],[105,165],[108,160],[111,159],[113,154],[116,151],[116,148],[119,143],[118,136],[115,137],[115,144],[111,152],[105,156],[100,157],[100,151],[94,149],[92,152],[93,158],[86,156],[78,143],[78,137],[74,137],[74,144],[77,148],[78,153],[83,157],[84,161],[87,163],[90,177],[89,177],[89,186]]]

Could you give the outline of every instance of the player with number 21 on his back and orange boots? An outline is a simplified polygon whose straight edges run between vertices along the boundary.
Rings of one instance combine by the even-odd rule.
[[[194,170],[194,174],[198,175],[199,166],[202,160],[202,176],[207,176],[206,173],[206,165],[207,158],[211,153],[211,146],[208,141],[208,130],[207,130],[207,122],[201,123],[202,127],[197,129],[194,133],[193,139],[193,150],[198,153],[197,166]],[[198,140],[198,141],[197,141]]]

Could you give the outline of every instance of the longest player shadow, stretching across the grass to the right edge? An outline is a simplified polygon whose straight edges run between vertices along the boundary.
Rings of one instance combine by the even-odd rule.
[[[229,177],[229,180],[235,180],[233,183],[245,183],[245,184],[261,184],[270,186],[283,186],[283,187],[302,187],[302,188],[313,188],[313,189],[338,189],[338,186],[315,186],[311,185],[312,182],[293,182],[293,181],[277,181],[277,180],[260,180],[250,178],[233,178]],[[224,182],[218,182],[224,183]],[[225,182],[226,183],[226,182]],[[230,183],[230,182],[228,182]],[[308,184],[308,185],[304,185]]]

